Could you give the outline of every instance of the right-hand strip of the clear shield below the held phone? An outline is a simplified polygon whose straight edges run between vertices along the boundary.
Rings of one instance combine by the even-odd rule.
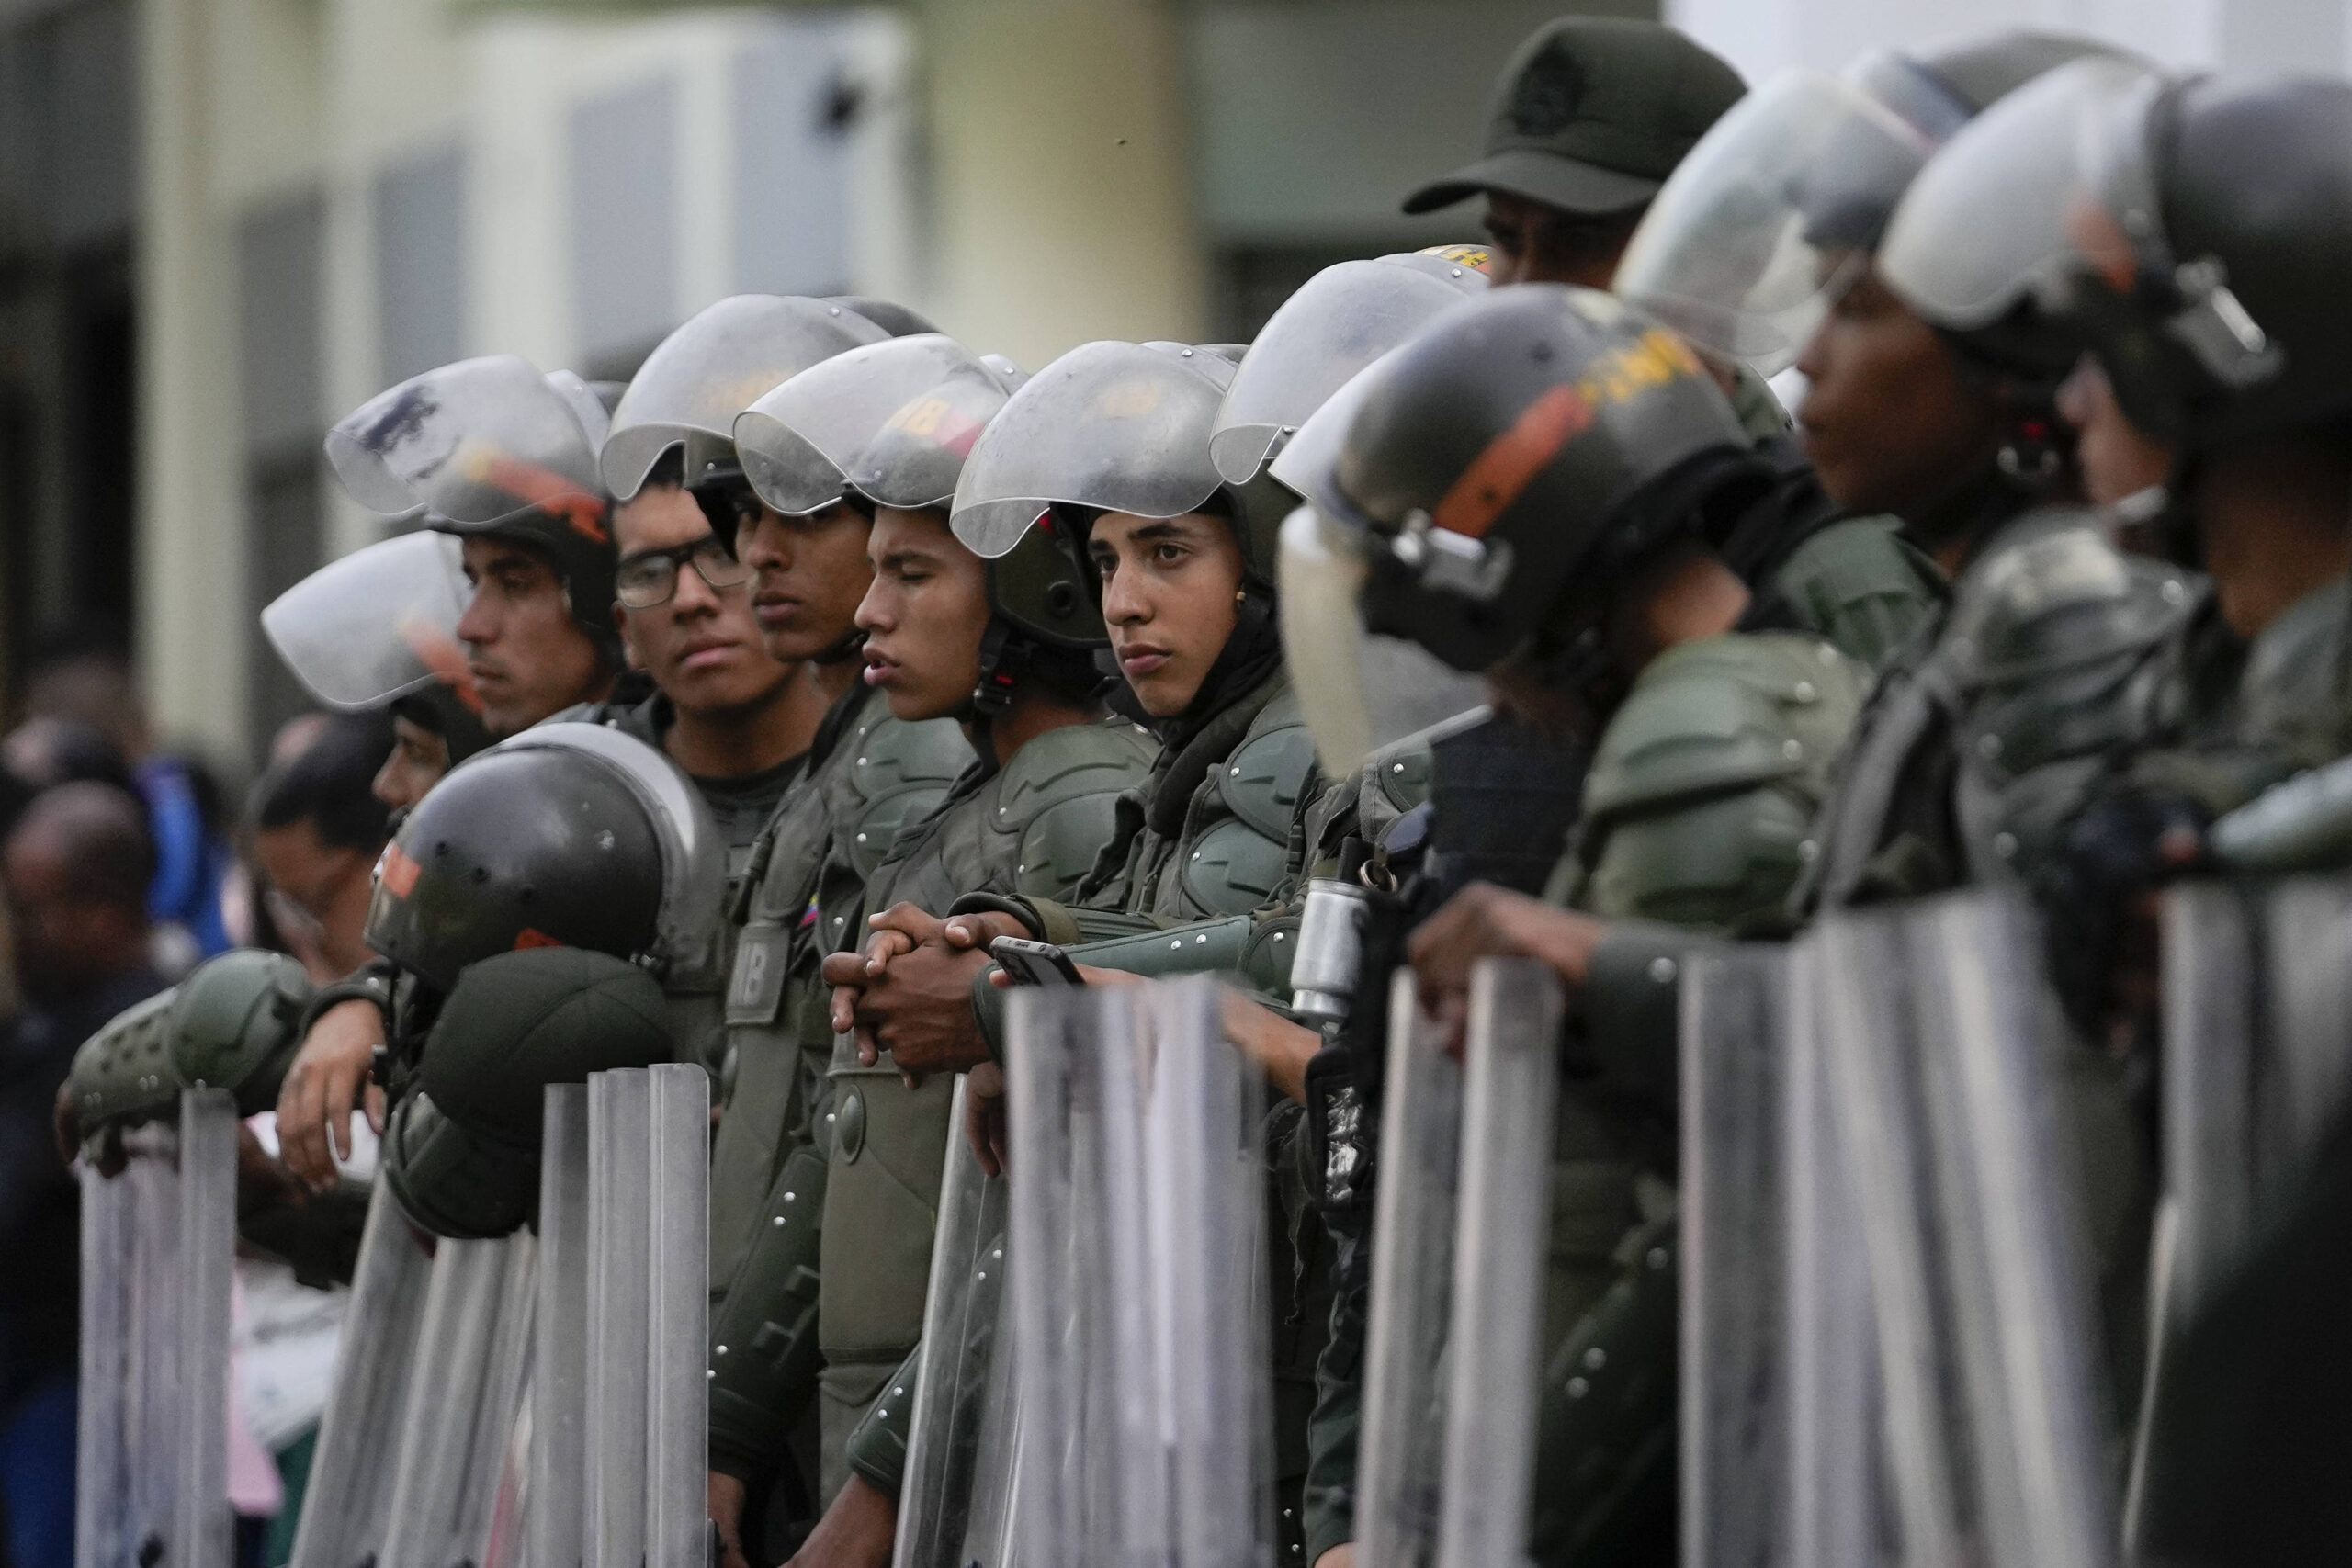
[[[1275,1561],[1265,1079],[1225,1041],[1214,978],[1141,987],[1145,1204],[1181,1563]]]

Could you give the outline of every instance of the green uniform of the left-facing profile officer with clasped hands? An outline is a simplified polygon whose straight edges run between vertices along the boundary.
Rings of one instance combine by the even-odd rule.
[[[1051,729],[1002,769],[974,764],[934,813],[889,846],[835,950],[863,945],[863,914],[894,903],[943,912],[962,893],[1068,896],[1094,867],[1115,804],[1155,750],[1148,731],[1105,719]],[[936,1074],[906,1088],[887,1051],[866,1067],[849,1034],[833,1037],[828,1023],[823,1037],[833,1046],[833,1143],[818,1342],[830,1497],[847,1479],[849,1432],[922,1338],[953,1079]],[[873,1479],[896,1493],[894,1474]]]

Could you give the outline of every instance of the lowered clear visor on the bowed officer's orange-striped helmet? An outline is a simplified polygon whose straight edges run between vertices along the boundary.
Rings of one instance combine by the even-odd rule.
[[[1479,677],[1416,642],[1364,630],[1359,538],[1312,505],[1282,522],[1282,654],[1324,778],[1350,778],[1383,745],[1484,701]]]

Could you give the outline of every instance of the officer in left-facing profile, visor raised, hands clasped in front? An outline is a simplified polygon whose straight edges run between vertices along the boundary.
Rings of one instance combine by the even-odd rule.
[[[955,719],[976,752],[941,804],[889,844],[863,900],[842,905],[849,936],[826,959],[828,985],[844,961],[868,978],[863,910],[938,914],[967,893],[1068,896],[1112,835],[1117,795],[1155,752],[1134,722],[1103,719],[1101,616],[1054,536],[1033,534],[983,562],[948,531],[962,451],[1018,381],[1009,364],[950,339],[910,336],[786,383],[739,423],[746,468],[771,505],[847,487],[873,508],[875,578],[856,616],[866,682],[901,722]],[[870,978],[875,992],[894,990],[887,971]],[[840,1004],[835,1027],[837,1013]],[[818,1342],[826,1458],[844,1474],[807,1547],[816,1561],[889,1552],[903,1465],[901,1394],[922,1326],[950,1084],[915,1084],[889,1053],[889,1037],[842,1030],[828,1070]],[[753,1324],[771,1312],[760,1284],[746,1272],[729,1291],[729,1321],[713,1335],[722,1385]],[[868,1410],[870,1429],[851,1441],[849,1427]]]

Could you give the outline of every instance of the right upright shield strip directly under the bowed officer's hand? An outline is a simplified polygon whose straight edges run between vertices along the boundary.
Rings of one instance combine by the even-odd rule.
[[[1517,1568],[1526,1554],[1559,1016],[1559,980],[1531,959],[1484,959],[1470,973],[1437,1516],[1437,1556],[1446,1568]]]

